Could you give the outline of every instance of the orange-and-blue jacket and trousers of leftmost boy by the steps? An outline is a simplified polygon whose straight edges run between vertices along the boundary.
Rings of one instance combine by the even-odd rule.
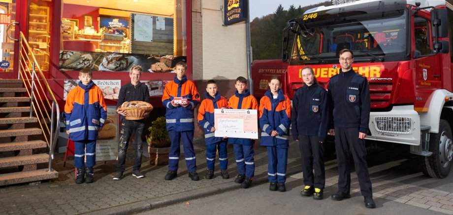
[[[104,125],[107,118],[107,107],[100,88],[93,81],[88,85],[79,81],[67,94],[63,116],[66,130],[70,132],[69,138],[75,142],[75,167],[85,168],[85,155],[87,167],[93,167],[96,163],[97,130]]]

